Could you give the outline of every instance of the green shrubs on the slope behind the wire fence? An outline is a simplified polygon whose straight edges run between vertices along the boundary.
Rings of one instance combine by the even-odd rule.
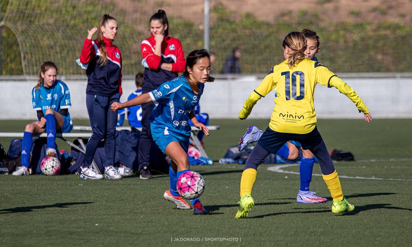
[[[140,42],[149,33],[139,31],[135,22],[127,19],[114,3],[2,0],[1,75],[37,75],[39,64],[45,60],[56,62],[62,75],[84,74],[75,61],[80,56],[86,30],[97,26],[104,13],[114,16],[119,23],[115,44],[123,53],[123,74],[142,71]],[[185,54],[203,48],[201,28],[191,21],[173,18],[172,13],[167,14],[170,34],[182,41]],[[141,21],[146,25],[149,16],[150,13],[146,18],[142,17]],[[238,47],[243,53],[243,74],[266,74],[273,64],[283,60],[281,41],[284,36],[304,28],[312,29],[320,36],[321,50],[317,57],[332,71],[411,71],[412,58],[405,54],[412,53],[412,27],[404,23],[330,23],[316,12],[304,10],[298,11],[295,20],[290,20],[288,13],[270,23],[251,14],[243,14],[235,20],[223,4],[216,4],[210,16],[213,20],[210,51],[217,55],[213,73],[220,73],[225,57]]]

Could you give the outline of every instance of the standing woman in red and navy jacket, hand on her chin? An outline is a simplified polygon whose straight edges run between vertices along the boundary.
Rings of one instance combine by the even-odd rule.
[[[144,69],[143,94],[158,88],[164,82],[178,77],[178,73],[185,71],[185,53],[182,43],[169,37],[169,23],[166,13],[159,10],[150,19],[151,36],[142,41],[142,65]],[[155,104],[142,104],[142,134],[139,139],[139,171],[141,179],[150,179],[149,154],[153,142],[150,132],[149,117]]]

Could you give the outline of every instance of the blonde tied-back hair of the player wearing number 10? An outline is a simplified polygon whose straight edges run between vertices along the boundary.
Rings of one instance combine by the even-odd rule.
[[[301,32],[290,32],[285,37],[282,43],[282,47],[285,49],[285,46],[288,46],[292,53],[288,55],[288,65],[289,68],[294,67],[299,62],[305,59],[305,50],[306,50],[306,38]]]

